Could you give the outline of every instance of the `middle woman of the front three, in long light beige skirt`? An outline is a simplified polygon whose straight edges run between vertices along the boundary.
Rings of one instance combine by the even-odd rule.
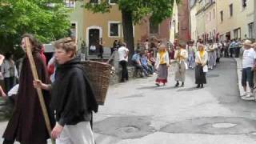
[[[186,59],[188,58],[187,51],[185,50],[185,45],[179,45],[178,50],[175,50],[174,58],[177,62],[177,71],[175,72],[175,81],[176,87],[179,85],[179,82],[182,82],[184,86],[185,75],[186,75]]]

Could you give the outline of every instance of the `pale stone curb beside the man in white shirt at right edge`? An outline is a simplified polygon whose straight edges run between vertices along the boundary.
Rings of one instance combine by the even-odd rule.
[[[241,81],[242,81],[242,59],[241,58],[234,58],[234,60],[237,63],[237,74],[238,74],[238,90],[239,90],[239,97],[241,97],[242,95],[242,91],[243,91],[243,87],[241,85]],[[255,101],[255,98],[252,97],[241,97],[243,100],[246,101]]]

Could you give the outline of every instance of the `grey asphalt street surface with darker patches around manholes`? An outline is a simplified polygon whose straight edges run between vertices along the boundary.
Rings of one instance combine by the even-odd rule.
[[[97,144],[256,144],[256,103],[238,92],[233,58],[222,58],[196,89],[194,70],[184,87],[174,87],[174,67],[166,86],[156,75],[110,86],[94,114]],[[0,134],[6,122],[0,122]],[[1,141],[0,141],[1,142]]]

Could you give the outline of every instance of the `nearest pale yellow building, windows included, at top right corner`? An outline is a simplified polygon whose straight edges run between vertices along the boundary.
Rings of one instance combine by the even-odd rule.
[[[221,40],[255,38],[254,0],[217,0],[218,33]]]

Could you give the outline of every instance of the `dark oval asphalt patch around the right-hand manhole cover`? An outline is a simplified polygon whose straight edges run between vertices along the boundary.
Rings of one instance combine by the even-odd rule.
[[[194,118],[171,123],[161,131],[176,134],[252,134],[256,133],[255,122],[249,118]]]

